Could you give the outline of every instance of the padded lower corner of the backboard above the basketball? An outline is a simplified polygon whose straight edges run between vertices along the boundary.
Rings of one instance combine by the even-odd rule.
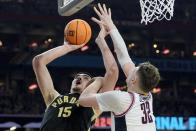
[[[58,0],[58,13],[61,16],[70,16],[93,1],[94,0]]]

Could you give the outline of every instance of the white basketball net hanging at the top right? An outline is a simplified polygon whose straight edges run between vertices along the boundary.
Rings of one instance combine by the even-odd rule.
[[[152,23],[155,19],[158,21],[165,18],[171,20],[174,11],[175,0],[140,0],[141,6],[141,23],[146,25]]]

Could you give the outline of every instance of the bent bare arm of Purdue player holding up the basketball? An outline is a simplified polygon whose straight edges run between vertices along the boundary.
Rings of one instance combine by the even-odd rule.
[[[53,81],[46,65],[52,62],[54,59],[76,50],[81,46],[83,45],[75,46],[64,42],[64,45],[48,50],[34,57],[33,70],[47,107],[53,101],[53,99],[59,95],[59,93],[54,89]]]

